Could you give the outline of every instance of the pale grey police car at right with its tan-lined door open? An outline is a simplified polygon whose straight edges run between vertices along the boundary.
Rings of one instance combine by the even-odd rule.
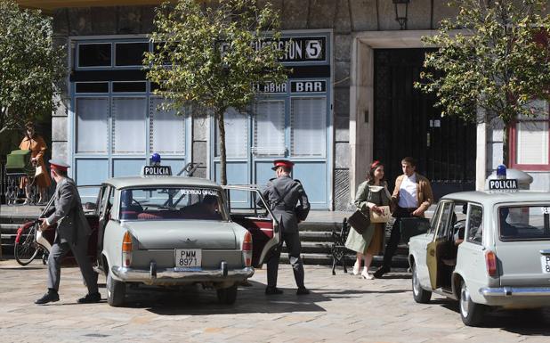
[[[550,306],[550,193],[457,192],[409,241],[413,297],[459,301],[466,325],[491,307]]]

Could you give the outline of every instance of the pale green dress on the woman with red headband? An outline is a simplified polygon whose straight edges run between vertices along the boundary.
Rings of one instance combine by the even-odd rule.
[[[390,204],[390,192],[387,189],[387,183],[383,186],[375,186],[368,184],[368,181],[360,184],[355,195],[355,206],[363,213],[368,213],[368,202],[374,203],[376,206],[384,206]],[[353,251],[364,254],[372,236],[375,233],[375,224],[368,225],[368,229],[363,234],[357,233],[353,228],[348,233],[348,238],[345,241],[345,247]]]

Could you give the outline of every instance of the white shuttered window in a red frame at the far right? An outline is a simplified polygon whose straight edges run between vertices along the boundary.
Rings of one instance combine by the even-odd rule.
[[[515,125],[514,151],[516,165],[538,166],[548,165],[549,143],[548,135],[548,103],[539,101],[532,105],[535,117],[518,118]]]

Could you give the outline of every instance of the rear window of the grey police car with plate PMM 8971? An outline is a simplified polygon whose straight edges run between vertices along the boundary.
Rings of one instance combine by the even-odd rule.
[[[221,193],[212,188],[130,188],[120,192],[120,218],[227,220]]]

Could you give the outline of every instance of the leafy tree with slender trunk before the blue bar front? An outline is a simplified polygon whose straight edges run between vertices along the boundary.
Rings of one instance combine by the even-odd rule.
[[[255,0],[195,0],[165,3],[157,9],[151,35],[153,53],[144,60],[148,78],[158,85],[163,107],[184,114],[213,116],[220,134],[222,184],[225,172],[226,110],[242,111],[255,100],[257,85],[284,82],[279,63],[279,15]],[[269,39],[266,33],[269,32]]]

